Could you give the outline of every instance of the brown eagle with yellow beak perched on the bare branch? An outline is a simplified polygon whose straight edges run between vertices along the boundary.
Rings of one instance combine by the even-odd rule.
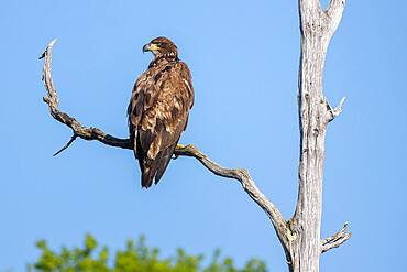
[[[162,36],[144,45],[147,51],[155,57],[135,81],[128,108],[130,142],[146,188],[163,176],[194,105],[190,72],[177,46]]]

